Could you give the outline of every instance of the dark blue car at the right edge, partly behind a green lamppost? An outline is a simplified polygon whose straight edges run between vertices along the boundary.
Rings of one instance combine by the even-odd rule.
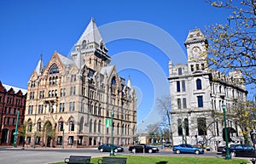
[[[223,150],[224,156],[226,155],[226,149]],[[248,144],[231,144],[230,145],[230,156],[243,156],[243,157],[254,157],[255,150],[253,146]]]

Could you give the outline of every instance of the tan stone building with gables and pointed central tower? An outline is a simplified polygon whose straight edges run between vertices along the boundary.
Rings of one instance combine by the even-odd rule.
[[[26,143],[86,147],[111,143],[106,119],[113,112],[113,143],[131,144],[137,130],[137,99],[130,78],[120,77],[95,20],[71,56],[42,59],[27,83]]]

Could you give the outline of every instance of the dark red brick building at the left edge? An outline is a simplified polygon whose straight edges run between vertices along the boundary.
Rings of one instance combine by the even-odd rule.
[[[0,145],[13,145],[15,124],[19,110],[19,126],[24,123],[26,109],[26,89],[15,88],[0,82]],[[24,137],[18,135],[17,145],[22,144]]]

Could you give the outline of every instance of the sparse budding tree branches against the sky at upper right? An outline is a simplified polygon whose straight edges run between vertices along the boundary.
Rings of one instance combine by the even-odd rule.
[[[209,42],[209,66],[224,71],[241,71],[247,84],[256,83],[256,1],[206,0],[213,7],[233,13],[225,25],[209,25],[204,31]]]

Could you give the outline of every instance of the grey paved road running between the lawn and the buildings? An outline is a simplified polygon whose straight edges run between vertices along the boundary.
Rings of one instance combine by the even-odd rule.
[[[127,149],[125,149],[125,155],[132,155]],[[108,152],[101,153],[96,148],[85,148],[85,149],[25,149],[21,148],[1,148],[0,147],[0,163],[1,164],[45,164],[45,163],[55,163],[63,161],[65,158],[71,155],[76,156],[108,156]],[[194,155],[194,154],[173,154],[171,149],[160,150],[160,153],[148,154],[137,153],[137,156],[216,156],[216,152],[206,152],[204,155]]]

